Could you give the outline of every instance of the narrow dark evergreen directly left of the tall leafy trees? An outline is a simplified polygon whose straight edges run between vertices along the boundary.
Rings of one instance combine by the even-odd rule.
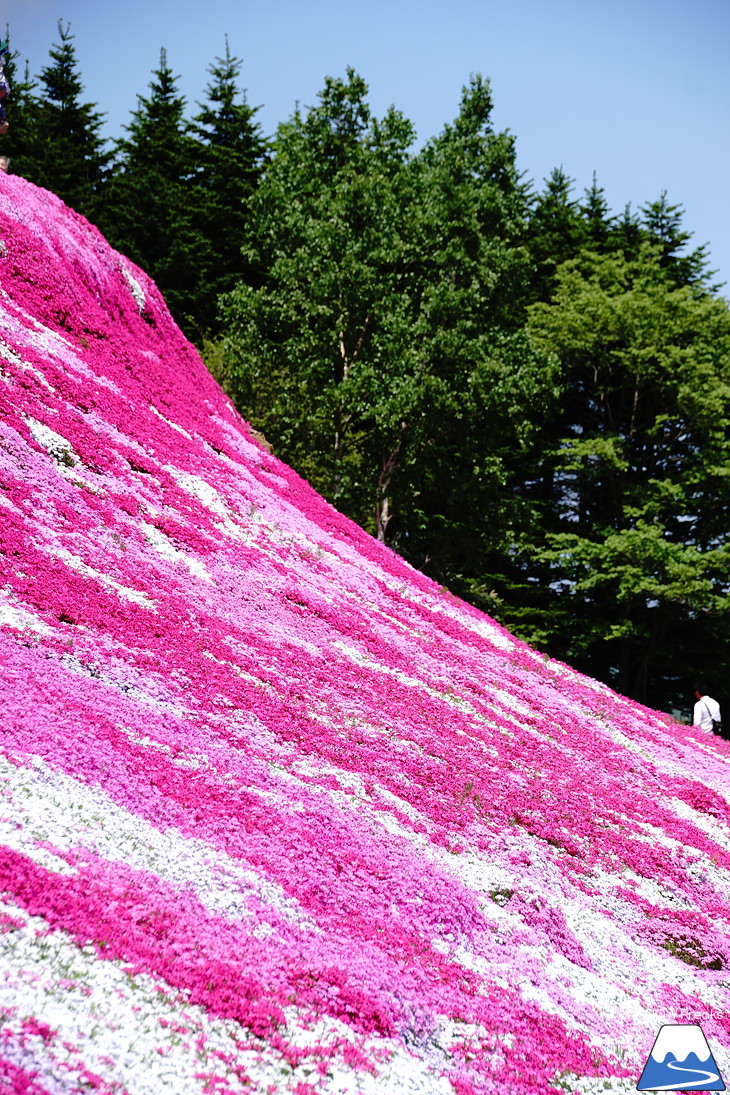
[[[224,56],[210,66],[206,102],[196,115],[199,142],[195,207],[200,232],[210,245],[213,263],[201,279],[195,316],[204,331],[216,327],[218,298],[233,288],[236,278],[251,280],[253,272],[241,247],[248,201],[260,177],[266,142],[252,107],[237,87],[241,61],[231,55],[228,37]]]

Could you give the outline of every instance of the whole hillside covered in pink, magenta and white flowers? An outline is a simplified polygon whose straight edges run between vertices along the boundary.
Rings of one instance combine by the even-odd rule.
[[[0,1088],[630,1092],[665,1023],[727,1075],[728,746],[337,514],[2,175],[0,279]]]

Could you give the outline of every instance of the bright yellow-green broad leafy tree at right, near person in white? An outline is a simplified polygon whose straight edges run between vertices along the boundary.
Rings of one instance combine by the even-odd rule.
[[[546,591],[533,637],[663,702],[688,652],[697,668],[709,650],[725,666],[730,623],[730,313],[675,272],[648,244],[634,260],[584,251],[558,268],[551,303],[532,307],[564,395],[535,453],[540,534],[520,545]]]

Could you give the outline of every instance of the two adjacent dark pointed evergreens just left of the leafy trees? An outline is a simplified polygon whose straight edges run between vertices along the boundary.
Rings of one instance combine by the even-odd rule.
[[[161,50],[150,94],[138,96],[128,136],[117,142],[102,216],[111,242],[148,270],[200,343],[215,333],[219,295],[248,276],[241,244],[265,145],[255,108],[236,88],[240,67],[227,42],[190,123]]]

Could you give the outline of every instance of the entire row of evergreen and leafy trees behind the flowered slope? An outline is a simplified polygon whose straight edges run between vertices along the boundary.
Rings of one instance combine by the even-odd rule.
[[[163,51],[109,153],[59,37],[14,170],[152,274],[278,456],[548,654],[722,692],[730,312],[680,207],[535,188],[480,77],[420,148],[352,70],[264,140],[228,43],[189,119]]]

